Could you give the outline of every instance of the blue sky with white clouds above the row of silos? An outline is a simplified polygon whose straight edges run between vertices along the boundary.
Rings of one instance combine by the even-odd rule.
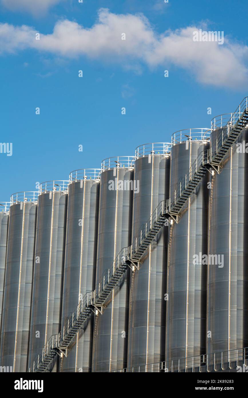
[[[13,144],[0,200],[234,111],[248,95],[247,12],[239,0],[0,0],[0,142]],[[224,44],[192,47],[192,27]]]

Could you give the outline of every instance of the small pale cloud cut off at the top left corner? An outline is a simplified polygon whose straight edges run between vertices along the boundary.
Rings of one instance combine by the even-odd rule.
[[[48,8],[58,4],[61,0],[0,0],[1,4],[11,11],[27,11],[38,15],[45,13]]]

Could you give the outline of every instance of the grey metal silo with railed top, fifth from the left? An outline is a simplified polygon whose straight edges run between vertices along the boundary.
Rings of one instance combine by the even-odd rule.
[[[114,258],[131,243],[134,156],[102,162],[99,201],[96,287],[112,269]],[[95,316],[93,372],[126,367],[128,343],[129,271]]]

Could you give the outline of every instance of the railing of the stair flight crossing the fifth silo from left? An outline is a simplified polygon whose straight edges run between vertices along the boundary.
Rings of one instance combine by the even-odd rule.
[[[114,259],[112,267],[106,269],[105,273],[102,275],[101,281],[96,285],[94,302],[96,302],[97,298],[101,296],[101,293],[104,291],[105,287],[111,281],[120,266],[130,259],[130,250],[130,247],[123,248]]]

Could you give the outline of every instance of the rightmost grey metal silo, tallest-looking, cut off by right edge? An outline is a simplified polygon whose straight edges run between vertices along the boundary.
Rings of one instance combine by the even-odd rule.
[[[216,139],[222,142],[228,122],[239,114],[215,117],[211,133],[212,156]],[[209,191],[209,265],[207,353],[248,346],[248,128],[245,128],[220,165],[213,169]],[[246,183],[247,180],[247,183]],[[215,354],[217,361],[218,355]],[[221,357],[221,354],[220,354]],[[224,355],[228,360],[228,355]],[[213,358],[209,355],[209,361]]]

